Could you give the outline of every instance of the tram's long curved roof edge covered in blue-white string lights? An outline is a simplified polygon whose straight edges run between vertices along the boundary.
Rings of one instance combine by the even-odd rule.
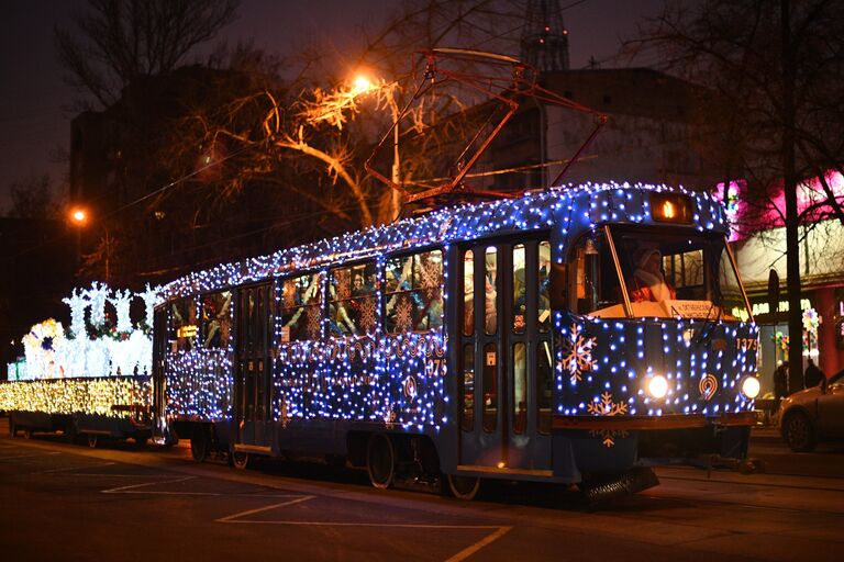
[[[682,226],[700,232],[726,232],[723,206],[706,192],[626,182],[566,184],[529,191],[513,199],[443,207],[389,225],[349,232],[267,256],[221,263],[167,283],[162,296],[170,299],[214,291],[292,271],[306,272],[436,244],[549,229],[555,222],[565,237],[576,236],[604,223],[659,224],[649,210],[647,194],[654,192],[680,193],[695,201],[693,221]]]

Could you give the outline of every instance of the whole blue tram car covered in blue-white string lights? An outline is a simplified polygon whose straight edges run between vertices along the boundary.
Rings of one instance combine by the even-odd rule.
[[[467,498],[745,459],[758,329],[726,235],[708,193],[588,183],[188,274],[156,308],[158,427],[198,461],[296,451]],[[671,288],[640,302],[655,251]]]

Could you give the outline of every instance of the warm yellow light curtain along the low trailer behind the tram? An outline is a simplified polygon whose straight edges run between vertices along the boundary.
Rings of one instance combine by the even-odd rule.
[[[152,405],[152,400],[148,376],[9,381],[0,384],[0,411],[3,412],[129,417],[132,408],[146,408]]]

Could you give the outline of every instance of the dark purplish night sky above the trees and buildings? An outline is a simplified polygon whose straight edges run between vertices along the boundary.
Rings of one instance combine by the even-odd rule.
[[[62,80],[53,29],[68,27],[80,0],[3,0],[0,16],[0,214],[14,181],[48,173],[60,199],[67,190],[68,105],[75,92]],[[254,38],[256,47],[289,54],[303,41],[331,38],[354,45],[362,25],[371,29],[398,2],[390,0],[242,0],[238,19],[224,30],[230,44]],[[620,38],[643,18],[658,13],[663,0],[560,0],[569,30],[571,68],[590,57],[609,61]],[[568,8],[566,8],[568,7]],[[445,45],[444,45],[445,46]],[[645,64],[647,61],[640,63]]]

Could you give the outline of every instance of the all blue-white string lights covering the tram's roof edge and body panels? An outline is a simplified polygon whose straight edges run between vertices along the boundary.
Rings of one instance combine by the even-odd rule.
[[[462,240],[525,231],[548,231],[552,259],[562,263],[569,245],[602,223],[653,223],[648,196],[653,192],[687,195],[691,202],[689,228],[726,231],[721,205],[707,193],[628,183],[568,186],[512,200],[463,204],[196,271],[164,286],[162,297],[196,296],[314,271],[320,274],[322,294],[326,294],[329,270],[337,265],[369,259],[375,260],[378,271],[385,271],[390,252],[421,252],[438,247],[445,257],[449,245]],[[448,266],[444,263],[444,289],[447,276]],[[280,290],[276,290],[280,310]],[[376,310],[384,311],[382,288],[375,295]],[[443,310],[447,310],[447,292],[443,296]],[[398,306],[397,317],[406,328],[410,326],[407,313]],[[322,325],[312,330],[313,339],[289,341],[289,331],[285,337],[281,321],[276,321],[270,366],[276,420],[384,420],[418,429],[436,429],[447,422],[449,398],[445,381],[457,370],[447,364],[446,327],[387,334],[379,313],[373,334],[329,337],[327,319],[322,318]],[[753,401],[744,397],[738,386],[744,376],[755,372],[755,352],[722,344],[756,338],[758,330],[754,324],[720,318],[609,321],[557,311],[553,330],[557,342],[553,401],[558,416],[614,413],[717,417],[753,408]],[[196,347],[167,355],[167,392],[173,412],[214,419],[230,417],[233,349],[231,345],[224,350]],[[659,400],[648,396],[644,389],[645,381],[655,374],[668,381],[668,390]],[[714,387],[710,376],[717,382]],[[703,384],[704,380],[709,382]],[[626,434],[600,437],[610,447],[615,438]]]

